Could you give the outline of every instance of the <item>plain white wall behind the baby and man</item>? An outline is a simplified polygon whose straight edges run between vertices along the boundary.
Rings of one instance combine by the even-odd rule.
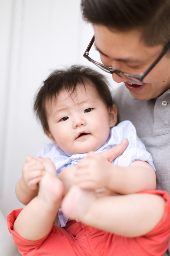
[[[80,0],[0,0],[0,209],[5,216],[23,207],[15,183],[26,156],[36,156],[49,142],[33,115],[34,95],[51,70],[93,67],[82,56],[92,36]]]

